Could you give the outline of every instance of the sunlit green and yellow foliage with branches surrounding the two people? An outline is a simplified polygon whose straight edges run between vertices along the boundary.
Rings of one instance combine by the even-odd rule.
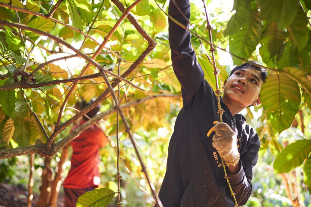
[[[113,69],[109,80],[120,93],[130,137],[157,192],[182,107],[180,85],[170,65],[168,2],[136,1],[125,19],[122,4],[128,8],[133,0],[51,2],[12,0],[11,6],[9,0],[0,0],[0,181],[28,188],[28,206],[32,189],[40,194],[37,206],[56,205],[70,167],[71,149],[66,144],[87,127],[69,134],[71,124],[101,102],[102,113],[94,120],[103,119],[100,126],[111,142],[100,151],[101,187],[118,191],[119,139],[123,205],[153,206],[146,173],[124,120],[117,127],[115,102],[98,68]],[[262,142],[253,170],[253,194],[246,205],[310,206],[311,1],[230,2],[192,2],[190,30],[198,61],[214,89],[204,4],[221,83],[233,65],[248,59],[269,71],[262,106],[243,111]],[[89,53],[95,61],[84,55]],[[118,70],[128,82],[116,77]],[[93,97],[95,104],[88,108],[76,104]]]

